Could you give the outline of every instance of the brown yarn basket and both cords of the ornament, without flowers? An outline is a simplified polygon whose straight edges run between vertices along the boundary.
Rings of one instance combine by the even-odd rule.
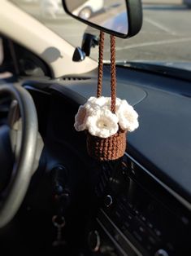
[[[104,33],[100,32],[98,89],[97,98],[102,96]],[[116,102],[116,69],[115,69],[115,36],[111,35],[111,112],[115,113]],[[115,135],[109,138],[99,138],[87,132],[87,150],[89,155],[98,161],[116,160],[122,157],[126,148],[126,131],[119,128]]]

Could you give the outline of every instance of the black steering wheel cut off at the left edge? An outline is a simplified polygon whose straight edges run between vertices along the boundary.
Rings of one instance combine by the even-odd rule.
[[[1,85],[0,97],[2,95],[11,95],[20,108],[20,117],[22,119],[20,152],[14,161],[12,178],[6,189],[6,196],[2,199],[0,205],[0,228],[4,227],[15,216],[19,210],[24,196],[27,192],[31,176],[33,174],[33,163],[37,149],[37,112],[33,99],[20,85]],[[2,140],[9,139],[11,127],[0,126],[0,163],[4,160],[1,157],[10,157],[10,150],[5,149]],[[4,147],[4,148],[3,148]],[[5,162],[5,161],[4,161]],[[0,166],[1,172],[6,170],[7,166]]]

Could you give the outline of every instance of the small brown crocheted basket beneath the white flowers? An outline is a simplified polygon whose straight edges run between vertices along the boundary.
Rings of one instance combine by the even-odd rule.
[[[99,161],[116,160],[124,156],[126,148],[126,131],[119,130],[115,135],[103,139],[87,132],[87,150],[90,157]]]

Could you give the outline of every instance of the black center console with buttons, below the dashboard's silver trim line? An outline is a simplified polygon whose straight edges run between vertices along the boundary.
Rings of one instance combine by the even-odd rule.
[[[170,188],[169,188],[170,189]],[[190,211],[127,154],[102,166],[99,210],[89,228],[92,255],[191,255]]]

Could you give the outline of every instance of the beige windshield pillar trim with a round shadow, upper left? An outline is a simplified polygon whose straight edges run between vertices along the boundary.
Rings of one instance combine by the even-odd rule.
[[[98,66],[89,57],[73,62],[73,46],[7,0],[0,2],[0,33],[38,55],[49,65],[54,78],[87,73]]]

